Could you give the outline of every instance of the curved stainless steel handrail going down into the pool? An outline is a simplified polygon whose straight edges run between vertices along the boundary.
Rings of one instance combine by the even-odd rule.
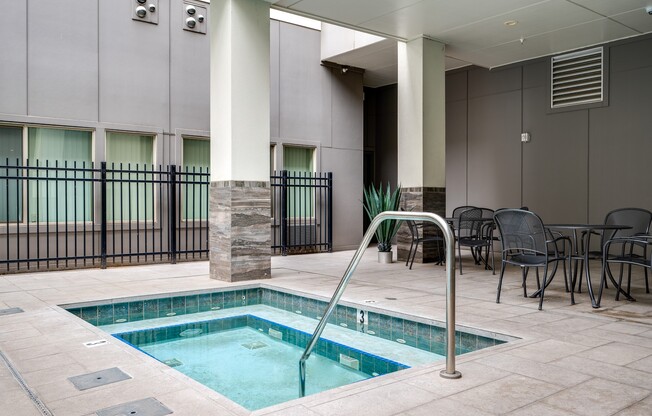
[[[430,212],[405,212],[405,211],[385,211],[378,214],[367,229],[358,250],[353,255],[349,267],[344,272],[344,276],[337,286],[333,297],[326,312],[322,316],[312,338],[308,341],[301,359],[299,360],[299,397],[306,395],[306,360],[310,357],[313,348],[317,344],[319,337],[321,337],[328,318],[335,310],[337,302],[339,302],[349,279],[353,272],[358,267],[364,251],[367,249],[371,238],[373,237],[376,229],[381,222],[386,220],[413,220],[413,221],[428,221],[434,222],[441,228],[444,233],[444,240],[446,242],[446,369],[442,370],[439,374],[444,378],[460,378],[462,374],[455,370],[455,238],[450,226],[439,215]]]

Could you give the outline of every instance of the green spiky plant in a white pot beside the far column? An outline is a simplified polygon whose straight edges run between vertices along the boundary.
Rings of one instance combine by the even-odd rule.
[[[383,191],[382,184],[378,189],[371,184],[369,188],[364,190],[364,210],[369,216],[369,220],[373,220],[376,215],[383,211],[398,211],[401,203],[401,187],[400,185],[391,191],[389,183],[387,183],[387,190]],[[376,239],[378,240],[378,251],[388,252],[392,251],[392,240],[401,227],[401,222],[398,220],[383,221],[376,229]]]

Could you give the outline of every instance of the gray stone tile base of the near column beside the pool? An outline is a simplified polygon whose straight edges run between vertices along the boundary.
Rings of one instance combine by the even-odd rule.
[[[240,282],[271,277],[270,201],[269,182],[211,182],[211,279]]]

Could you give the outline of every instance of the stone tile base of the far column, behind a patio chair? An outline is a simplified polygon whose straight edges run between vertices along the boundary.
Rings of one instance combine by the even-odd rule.
[[[406,211],[432,212],[442,217],[446,215],[446,188],[414,187],[403,188],[401,195],[401,206]],[[439,235],[439,227],[427,223],[423,227],[423,236],[431,237]],[[403,224],[397,234],[397,254],[399,261],[406,261],[412,242],[412,234],[406,224]],[[424,247],[425,246],[425,247]],[[419,249],[414,257],[415,263],[431,263],[438,261],[443,256],[444,243],[440,244],[441,252],[437,251],[435,242],[419,244]]]

